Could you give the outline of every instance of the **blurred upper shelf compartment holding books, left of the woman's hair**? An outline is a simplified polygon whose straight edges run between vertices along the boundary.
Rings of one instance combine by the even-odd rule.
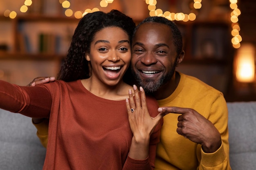
[[[17,58],[15,55],[24,59],[63,59],[79,19],[33,14],[13,20],[1,17],[0,22],[8,25],[7,31],[1,31],[0,35],[5,37],[4,34],[9,34],[0,44],[0,59]]]

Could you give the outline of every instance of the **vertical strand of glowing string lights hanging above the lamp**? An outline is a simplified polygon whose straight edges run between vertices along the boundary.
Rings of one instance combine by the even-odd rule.
[[[232,22],[231,35],[233,36],[231,42],[233,47],[238,49],[241,46],[240,42],[242,41],[242,37],[239,35],[240,26],[238,24],[238,16],[241,14],[241,11],[238,9],[237,0],[229,0],[229,2],[229,6],[232,9],[230,13],[230,20]]]

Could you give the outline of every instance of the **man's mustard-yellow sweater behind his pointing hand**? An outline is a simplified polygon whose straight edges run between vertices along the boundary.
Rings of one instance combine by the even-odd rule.
[[[180,114],[168,114],[164,116],[157,146],[155,170],[231,170],[228,110],[223,94],[195,77],[179,74],[181,78],[176,90],[168,98],[158,100],[159,106],[193,108],[198,111],[218,129],[222,145],[214,153],[204,153],[201,145],[177,134],[177,117]]]

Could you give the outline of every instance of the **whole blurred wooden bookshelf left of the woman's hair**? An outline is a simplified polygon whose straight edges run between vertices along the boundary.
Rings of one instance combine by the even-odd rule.
[[[56,76],[78,22],[42,13],[0,16],[0,79],[26,86],[35,77]]]

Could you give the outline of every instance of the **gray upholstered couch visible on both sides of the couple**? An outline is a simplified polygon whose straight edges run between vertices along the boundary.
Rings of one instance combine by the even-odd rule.
[[[232,170],[256,170],[256,102],[228,103]],[[0,110],[0,170],[41,170],[45,148],[31,118]]]

